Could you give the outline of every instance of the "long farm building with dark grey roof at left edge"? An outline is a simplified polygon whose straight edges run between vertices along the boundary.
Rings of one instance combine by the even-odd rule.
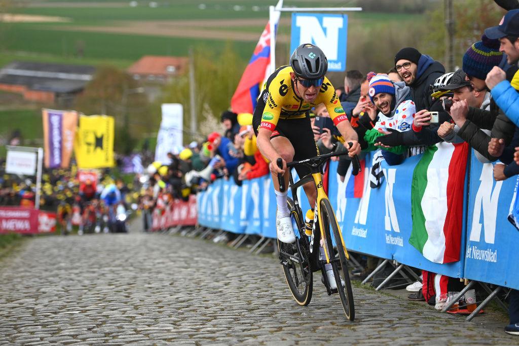
[[[95,73],[94,66],[14,61],[0,70],[0,90],[25,100],[71,107]]]

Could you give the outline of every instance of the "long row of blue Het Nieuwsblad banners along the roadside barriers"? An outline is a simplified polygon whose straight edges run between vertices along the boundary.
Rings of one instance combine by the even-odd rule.
[[[510,178],[495,182],[493,164],[483,165],[473,153],[471,155],[471,164],[466,167],[463,183],[462,213],[456,216],[462,219],[461,228],[456,233],[459,238],[456,241],[459,244],[458,261],[433,262],[424,256],[424,251],[409,243],[413,232],[411,201],[415,191],[415,168],[420,162],[424,163],[424,155],[409,157],[401,165],[388,166],[382,162],[380,169],[383,178],[378,187],[372,187],[370,172],[373,155],[368,154],[360,198],[347,197],[349,185],[353,181],[351,169],[343,182],[335,173],[337,163],[331,163],[328,195],[346,247],[434,273],[519,289],[519,276],[515,275],[511,264],[519,262],[519,251],[516,251],[519,231],[508,221],[516,199],[518,180]],[[438,177],[448,180],[449,173],[452,173],[452,167],[449,171],[451,160],[447,157],[443,161],[443,168],[426,170],[430,181],[436,181]],[[431,179],[434,178],[433,174],[437,175],[436,180]],[[428,192],[430,199],[422,199],[422,209],[425,210],[425,204],[429,203],[439,209],[439,218],[445,217],[446,213],[439,201],[442,197],[440,192],[446,189],[447,183],[441,184],[436,189],[439,191],[437,194]],[[302,189],[299,189],[298,197],[305,212],[308,201]],[[439,199],[435,202],[435,198]],[[219,179],[207,191],[197,195],[197,206],[198,222],[203,226],[276,237],[276,197],[269,176],[244,181],[242,187],[232,181]],[[447,221],[444,229],[447,228]],[[426,222],[426,228],[429,225]],[[440,232],[435,237],[429,234],[430,242],[438,246],[437,252],[445,251],[445,247],[448,247],[446,243],[450,240],[445,239],[445,234]]]

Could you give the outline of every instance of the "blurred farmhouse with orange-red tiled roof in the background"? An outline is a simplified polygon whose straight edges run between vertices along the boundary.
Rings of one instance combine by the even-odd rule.
[[[131,65],[127,72],[134,79],[143,82],[166,83],[171,82],[173,77],[182,75],[187,70],[187,64],[186,57],[148,55]]]

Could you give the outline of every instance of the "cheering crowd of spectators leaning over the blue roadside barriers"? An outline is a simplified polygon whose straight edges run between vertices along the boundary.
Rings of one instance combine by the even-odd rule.
[[[515,2],[507,2],[509,5],[519,7]],[[467,48],[461,68],[455,71],[445,71],[434,57],[404,47],[396,52],[393,66],[386,71],[346,72],[339,99],[363,151],[375,151],[370,172],[373,187],[381,178],[377,171],[381,161],[398,165],[442,141],[467,142],[481,162],[499,161],[494,169],[497,181],[519,173],[519,9],[511,7],[507,7],[509,12],[499,25],[485,30],[481,40]],[[172,197],[185,198],[214,179],[234,179],[240,184],[244,179],[268,174],[265,158],[255,148],[250,122],[239,121],[239,116],[245,118],[243,114],[223,112],[225,130],[172,154],[171,164],[154,172],[155,184],[161,186],[161,181],[167,181]],[[309,116],[320,153],[344,151],[333,122],[326,121],[329,115],[324,105],[317,105]],[[339,161],[337,173],[342,179],[349,164],[348,159]],[[164,175],[160,175],[160,169]],[[459,280],[444,277],[441,281],[447,284],[436,291],[435,276],[423,271],[423,282],[413,285],[420,289],[409,299],[427,301],[442,309],[446,290],[453,290]],[[519,334],[516,290],[510,293],[510,325],[505,330]]]

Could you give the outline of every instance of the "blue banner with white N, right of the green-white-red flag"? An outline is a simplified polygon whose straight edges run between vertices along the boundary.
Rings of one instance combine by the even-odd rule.
[[[519,232],[508,221],[517,177],[494,180],[494,165],[472,155],[465,277],[519,289]]]

